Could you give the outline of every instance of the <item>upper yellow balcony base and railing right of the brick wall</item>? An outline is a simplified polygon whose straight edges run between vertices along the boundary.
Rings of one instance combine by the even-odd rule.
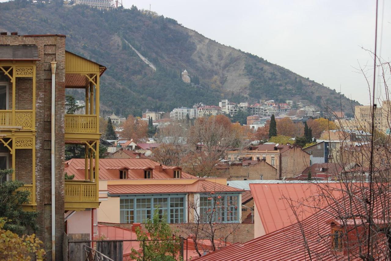
[[[65,114],[65,139],[99,139],[97,122],[97,115]]]

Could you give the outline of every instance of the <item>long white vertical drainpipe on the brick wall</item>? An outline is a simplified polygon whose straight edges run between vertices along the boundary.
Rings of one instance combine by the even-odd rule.
[[[57,62],[51,62],[50,66],[52,67],[52,260],[56,260],[56,183],[54,177],[54,152],[55,152],[55,143],[56,136],[54,132],[55,125],[55,116],[56,116],[56,65]]]

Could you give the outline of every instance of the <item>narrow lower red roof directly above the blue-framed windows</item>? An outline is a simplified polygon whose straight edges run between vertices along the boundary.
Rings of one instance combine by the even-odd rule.
[[[189,192],[243,192],[238,188],[199,179],[192,184],[108,185],[110,194],[168,194]]]

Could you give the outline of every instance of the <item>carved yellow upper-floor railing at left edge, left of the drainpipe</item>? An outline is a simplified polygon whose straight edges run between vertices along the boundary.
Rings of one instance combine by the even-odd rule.
[[[0,110],[0,126],[21,126],[23,130],[32,130],[32,110],[16,110],[15,121],[11,110]]]

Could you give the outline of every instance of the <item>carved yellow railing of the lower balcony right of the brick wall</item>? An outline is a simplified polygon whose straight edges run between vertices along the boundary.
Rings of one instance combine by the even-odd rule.
[[[65,181],[65,201],[95,202],[97,200],[97,184],[83,181]]]

